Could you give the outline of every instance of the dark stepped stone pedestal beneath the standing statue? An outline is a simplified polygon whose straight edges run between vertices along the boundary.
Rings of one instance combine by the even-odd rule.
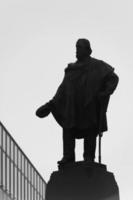
[[[75,162],[51,174],[46,200],[119,200],[119,189],[106,165]]]

